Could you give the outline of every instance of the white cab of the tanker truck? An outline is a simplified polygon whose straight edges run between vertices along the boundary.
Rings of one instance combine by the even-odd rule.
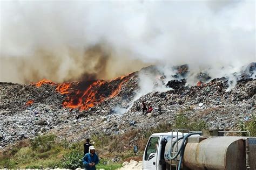
[[[165,146],[167,141],[174,137],[182,136],[186,133],[180,132],[166,132],[166,133],[153,133],[143,154],[143,170],[163,170],[169,169],[164,158]]]

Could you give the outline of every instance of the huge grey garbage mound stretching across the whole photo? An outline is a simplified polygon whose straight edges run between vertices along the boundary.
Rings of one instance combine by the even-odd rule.
[[[256,112],[255,65],[251,63],[242,72],[234,73],[233,86],[227,77],[213,79],[207,73],[197,74],[198,83],[188,86],[188,66],[173,68],[176,70],[173,75],[163,75],[150,66],[104,82],[101,88],[95,87],[93,93],[86,94],[91,103],[80,96],[80,105],[72,101],[77,107],[64,104],[70,101],[71,94],[72,98],[78,94],[75,85],[69,93],[60,93],[55,83],[37,87],[1,82],[0,144],[4,148],[46,133],[79,141],[97,133],[112,135],[132,129],[147,130],[161,123],[172,124],[181,112],[191,121],[207,122],[210,129],[236,130],[239,121],[247,121]],[[154,90],[142,92],[142,75],[156,79]],[[167,79],[170,76],[172,80]],[[142,101],[152,106],[152,112],[143,114]],[[85,108],[89,109],[81,109],[81,103],[86,102],[90,107]]]

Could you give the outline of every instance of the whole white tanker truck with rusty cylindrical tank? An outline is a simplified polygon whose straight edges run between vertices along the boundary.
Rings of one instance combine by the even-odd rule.
[[[223,136],[224,133],[153,133],[143,154],[143,170],[255,170],[256,137]]]

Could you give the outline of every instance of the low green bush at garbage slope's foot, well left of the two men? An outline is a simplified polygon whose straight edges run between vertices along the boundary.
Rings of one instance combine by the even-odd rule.
[[[33,150],[40,153],[51,150],[52,146],[55,144],[56,136],[54,134],[38,136],[35,139],[30,140],[30,144]]]

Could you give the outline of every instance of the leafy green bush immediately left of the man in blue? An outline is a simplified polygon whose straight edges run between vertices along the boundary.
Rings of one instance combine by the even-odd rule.
[[[60,160],[59,166],[61,168],[68,168],[68,169],[76,169],[83,167],[83,153],[78,150],[72,150],[69,153],[63,155],[62,160]]]

